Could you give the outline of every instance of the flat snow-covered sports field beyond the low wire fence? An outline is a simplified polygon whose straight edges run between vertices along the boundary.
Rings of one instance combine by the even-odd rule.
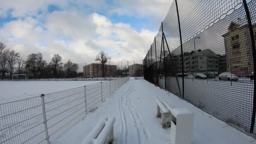
[[[0,104],[98,82],[100,81],[0,81]]]

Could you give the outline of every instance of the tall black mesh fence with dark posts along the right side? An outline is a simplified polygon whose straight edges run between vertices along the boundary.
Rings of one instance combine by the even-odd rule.
[[[256,1],[174,0],[144,79],[256,138]]]

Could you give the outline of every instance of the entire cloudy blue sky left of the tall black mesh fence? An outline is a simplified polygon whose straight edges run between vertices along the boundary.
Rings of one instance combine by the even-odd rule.
[[[91,63],[100,50],[112,62],[142,61],[172,0],[0,0],[0,41],[49,61]]]

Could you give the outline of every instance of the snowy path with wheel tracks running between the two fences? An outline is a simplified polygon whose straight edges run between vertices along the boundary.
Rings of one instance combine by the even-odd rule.
[[[155,87],[145,80],[131,79],[107,98],[98,109],[84,120],[57,137],[52,143],[82,143],[99,119],[115,117],[114,143],[169,143],[170,128],[161,127],[156,118],[155,99],[166,101],[173,108],[185,107],[195,114],[193,143],[256,143],[256,141],[230,125],[203,112],[177,96]]]

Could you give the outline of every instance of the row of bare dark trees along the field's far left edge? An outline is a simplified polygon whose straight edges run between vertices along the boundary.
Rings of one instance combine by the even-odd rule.
[[[0,42],[0,71],[2,79],[5,79],[5,73],[27,74],[28,78],[62,78],[76,77],[79,69],[77,63],[69,60],[62,63],[62,57],[59,54],[53,55],[51,61],[47,63],[42,53],[31,53],[27,59],[23,61],[20,54],[14,50],[7,49],[7,46]],[[16,68],[16,70],[14,70]]]

